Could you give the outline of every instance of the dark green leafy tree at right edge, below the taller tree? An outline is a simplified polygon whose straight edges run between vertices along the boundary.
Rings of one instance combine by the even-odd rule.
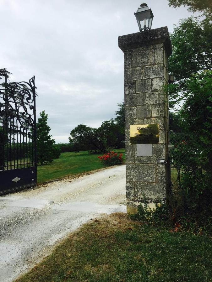
[[[206,154],[205,170],[212,178],[212,71],[204,70],[186,81],[186,100],[182,118],[190,132],[198,135],[202,151]]]

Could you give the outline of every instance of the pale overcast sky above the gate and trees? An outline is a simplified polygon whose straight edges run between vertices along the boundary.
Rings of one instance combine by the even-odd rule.
[[[138,32],[138,0],[0,0],[0,68],[10,81],[35,75],[37,118],[42,110],[57,143],[78,124],[99,127],[124,99],[123,53],[117,37]],[[149,0],[152,29],[169,32],[187,8]]]

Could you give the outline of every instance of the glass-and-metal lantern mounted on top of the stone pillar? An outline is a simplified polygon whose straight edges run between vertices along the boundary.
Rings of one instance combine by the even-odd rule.
[[[152,10],[149,9],[146,3],[140,5],[141,8],[138,8],[137,12],[134,13],[137,23],[139,26],[139,30],[146,31],[151,29],[152,27],[152,19],[154,18]]]

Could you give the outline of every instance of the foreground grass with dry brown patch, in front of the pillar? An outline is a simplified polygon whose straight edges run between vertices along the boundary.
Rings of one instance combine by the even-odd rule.
[[[16,281],[211,281],[209,236],[169,229],[123,213],[95,219]]]

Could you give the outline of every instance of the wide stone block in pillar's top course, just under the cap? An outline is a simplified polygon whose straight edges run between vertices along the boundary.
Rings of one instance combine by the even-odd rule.
[[[154,64],[154,50],[134,52],[132,55],[132,67]]]

